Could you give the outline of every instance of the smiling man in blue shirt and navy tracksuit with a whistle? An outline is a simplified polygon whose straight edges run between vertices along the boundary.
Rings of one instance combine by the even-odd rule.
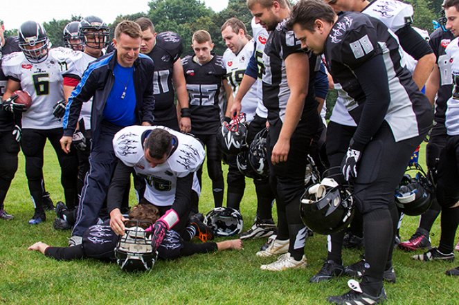
[[[100,57],[84,72],[71,93],[64,115],[62,149],[70,151],[83,102],[93,98],[91,111],[91,169],[84,181],[78,216],[69,242],[80,243],[82,234],[97,221],[107,195],[116,156],[111,141],[125,126],[153,123],[153,71],[150,57],[140,54],[142,30],[133,21],[116,27],[116,51]]]

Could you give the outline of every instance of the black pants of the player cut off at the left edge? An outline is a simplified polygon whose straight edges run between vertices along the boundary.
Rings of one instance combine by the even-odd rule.
[[[17,154],[19,142],[16,141],[12,131],[0,132],[0,209],[3,209],[6,193],[10,188],[12,178],[17,171]]]

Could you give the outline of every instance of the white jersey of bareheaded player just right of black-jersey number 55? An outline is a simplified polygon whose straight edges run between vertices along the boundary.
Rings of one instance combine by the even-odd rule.
[[[226,80],[233,89],[233,97],[236,96],[239,85],[244,77],[247,64],[253,54],[254,44],[253,39],[249,41],[240,52],[235,55],[229,48],[223,54],[223,62],[226,66]],[[258,107],[258,93],[257,86],[252,86],[251,89],[244,95],[242,99],[242,112],[246,114],[246,121],[251,122],[255,116],[255,111]]]

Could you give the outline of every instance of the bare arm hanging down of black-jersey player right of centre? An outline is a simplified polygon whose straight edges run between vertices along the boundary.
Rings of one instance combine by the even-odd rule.
[[[309,85],[309,59],[306,53],[293,53],[285,59],[287,83],[290,96],[285,109],[284,123],[276,145],[273,147],[271,162],[273,164],[287,161],[290,150],[290,138],[294,133],[305,106]]]

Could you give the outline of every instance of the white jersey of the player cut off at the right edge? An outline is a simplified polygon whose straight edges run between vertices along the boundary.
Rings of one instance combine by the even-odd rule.
[[[447,102],[446,121],[449,136],[459,135],[459,39],[455,38],[449,43],[445,52],[449,56],[453,73],[453,95]]]

